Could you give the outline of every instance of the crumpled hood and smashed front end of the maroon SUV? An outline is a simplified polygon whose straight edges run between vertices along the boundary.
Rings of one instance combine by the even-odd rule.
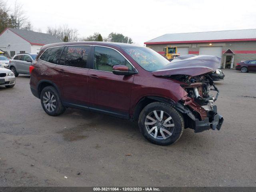
[[[219,90],[212,79],[218,62],[220,58],[214,56],[196,56],[194,59],[181,60],[175,62],[172,67],[154,72],[156,76],[162,74],[178,80],[186,91],[187,95],[175,106],[184,115],[185,128],[192,128],[195,132],[220,130],[224,119],[217,113],[217,106],[214,105]],[[213,95],[212,92],[216,94]]]

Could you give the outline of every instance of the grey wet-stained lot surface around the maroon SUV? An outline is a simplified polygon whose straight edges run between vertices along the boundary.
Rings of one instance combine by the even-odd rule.
[[[256,186],[256,73],[224,73],[221,130],[186,129],[171,146],[128,120],[70,108],[48,116],[20,75],[0,88],[0,186]]]

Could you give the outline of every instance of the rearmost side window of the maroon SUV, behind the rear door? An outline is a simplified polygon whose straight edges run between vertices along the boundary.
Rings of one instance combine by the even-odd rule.
[[[40,57],[40,59],[49,62],[49,63],[53,63],[53,64],[58,64],[58,61],[60,59],[60,55],[62,53],[63,50],[63,46],[62,47],[54,47],[54,48],[48,48]]]

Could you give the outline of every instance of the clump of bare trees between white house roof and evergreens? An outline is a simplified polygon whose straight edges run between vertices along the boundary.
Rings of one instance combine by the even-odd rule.
[[[63,26],[55,26],[55,28],[51,28],[48,26],[47,33],[57,37],[58,39],[64,41],[65,36],[68,37],[68,41],[78,41],[78,30],[69,28],[67,24]]]

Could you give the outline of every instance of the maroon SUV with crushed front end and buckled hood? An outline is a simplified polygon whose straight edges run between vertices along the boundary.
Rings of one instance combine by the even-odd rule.
[[[223,118],[213,105],[218,89],[211,78],[219,62],[197,56],[170,63],[131,44],[49,44],[30,67],[30,87],[48,115],[72,107],[132,119],[146,139],[168,145],[184,128],[220,130]]]

